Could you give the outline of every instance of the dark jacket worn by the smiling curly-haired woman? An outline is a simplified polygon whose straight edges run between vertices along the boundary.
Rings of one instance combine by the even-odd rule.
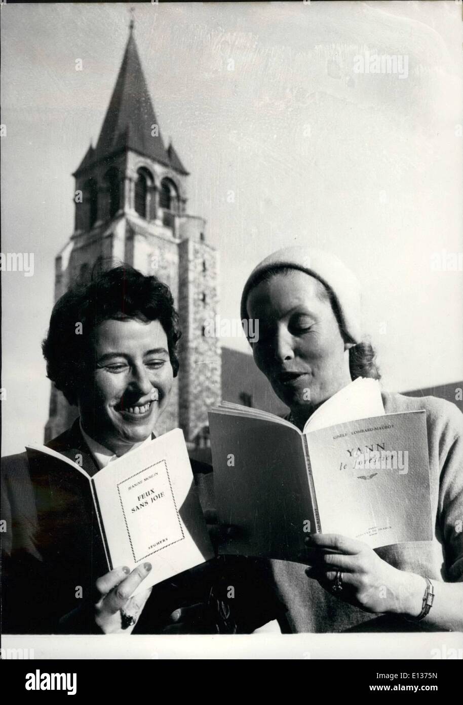
[[[47,445],[96,472],[78,419]],[[108,565],[88,480],[38,457],[33,468],[26,453],[1,462],[2,631],[98,633],[94,584]],[[191,468],[203,510],[213,508],[212,467],[191,460]],[[186,633],[252,632],[279,610],[263,563],[220,557],[153,587],[132,633],[163,633],[172,611],[191,605],[201,608]]]

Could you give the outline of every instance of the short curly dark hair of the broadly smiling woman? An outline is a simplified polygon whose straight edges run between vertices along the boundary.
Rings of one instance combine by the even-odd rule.
[[[94,268],[88,283],[77,280],[58,299],[42,343],[46,374],[70,404],[77,404],[77,392],[91,361],[91,340],[96,326],[108,319],[126,318],[160,321],[177,376],[177,342],[182,333],[167,284],[156,276],[144,276],[128,264],[108,271]],[[80,335],[76,335],[77,324],[82,324]]]

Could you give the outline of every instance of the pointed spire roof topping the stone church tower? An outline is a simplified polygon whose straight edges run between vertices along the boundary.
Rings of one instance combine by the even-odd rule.
[[[153,137],[153,125],[158,126],[158,136]],[[187,174],[175,150],[171,154],[165,148],[159,123],[153,109],[146,80],[135,44],[133,21],[130,23],[129,39],[120,66],[118,79],[103,121],[95,149],[87,151],[75,174],[120,149],[133,149],[160,164],[171,166]]]

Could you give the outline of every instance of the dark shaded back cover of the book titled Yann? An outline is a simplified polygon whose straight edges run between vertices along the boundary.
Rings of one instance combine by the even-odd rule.
[[[236,536],[220,553],[298,560],[315,521],[296,427],[209,412],[220,522]]]

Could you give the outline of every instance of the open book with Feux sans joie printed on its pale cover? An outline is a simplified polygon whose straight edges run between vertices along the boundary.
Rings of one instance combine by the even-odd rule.
[[[68,488],[91,494],[108,570],[151,563],[151,572],[134,594],[213,558],[180,429],[122,455],[92,477],[46,446],[28,446],[27,455],[32,474],[38,457],[55,474],[68,474]]]

